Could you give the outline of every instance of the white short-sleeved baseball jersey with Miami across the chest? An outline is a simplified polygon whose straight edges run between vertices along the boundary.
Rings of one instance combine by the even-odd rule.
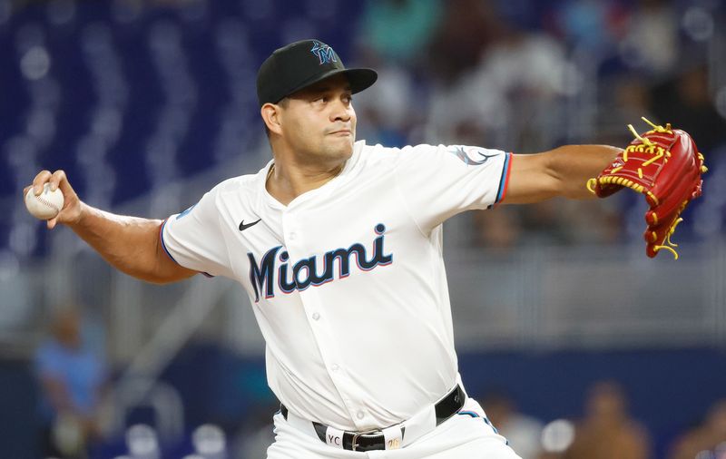
[[[162,227],[182,266],[234,278],[289,410],[342,430],[400,423],[457,379],[441,223],[505,196],[509,153],[355,143],[336,178],[289,205],[272,161],[221,182]]]

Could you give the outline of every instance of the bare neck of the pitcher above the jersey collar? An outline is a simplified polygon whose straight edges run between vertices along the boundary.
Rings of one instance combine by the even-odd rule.
[[[336,178],[344,166],[345,161],[324,165],[295,165],[279,161],[276,157],[270,167],[266,187],[273,198],[287,206],[299,195],[316,190]]]

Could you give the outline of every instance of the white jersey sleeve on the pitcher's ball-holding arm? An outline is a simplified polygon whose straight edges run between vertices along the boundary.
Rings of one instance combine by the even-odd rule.
[[[208,276],[231,277],[230,255],[220,224],[219,186],[205,193],[201,200],[164,221],[162,247],[167,255],[184,268]]]

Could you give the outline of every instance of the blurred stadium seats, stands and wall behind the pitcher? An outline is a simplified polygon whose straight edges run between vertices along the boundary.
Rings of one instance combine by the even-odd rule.
[[[645,258],[634,193],[445,225],[471,394],[580,425],[611,381],[645,456],[689,457],[673,453],[681,435],[726,397],[724,24],[720,0],[0,0],[0,456],[41,457],[39,349],[72,307],[108,375],[91,457],[262,457],[276,401],[241,288],[143,284],[47,231],[21,195],[64,169],[94,206],[164,218],[258,171],[257,68],[318,37],[379,71],[355,99],[369,143],[625,145],[642,115],[692,133],[711,171],[676,262]]]

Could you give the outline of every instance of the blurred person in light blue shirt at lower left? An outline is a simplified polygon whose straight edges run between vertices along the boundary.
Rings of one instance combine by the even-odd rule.
[[[103,359],[83,339],[76,308],[57,312],[51,332],[35,354],[44,454],[84,458],[87,447],[100,438],[96,416],[105,380]]]

